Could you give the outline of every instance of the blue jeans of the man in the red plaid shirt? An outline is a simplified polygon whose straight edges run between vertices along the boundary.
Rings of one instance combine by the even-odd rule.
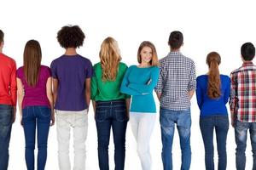
[[[244,170],[246,167],[245,150],[247,148],[247,130],[249,129],[253,149],[253,170],[256,169],[256,122],[236,121],[236,169]]]

